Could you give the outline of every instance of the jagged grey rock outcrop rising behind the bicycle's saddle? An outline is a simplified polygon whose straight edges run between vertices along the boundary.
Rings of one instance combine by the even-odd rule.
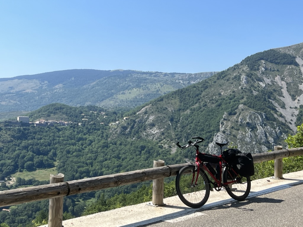
[[[243,152],[260,153],[273,147],[278,138],[287,136],[281,133],[276,124],[267,125],[265,113],[252,111],[245,105],[239,105],[236,112],[233,116],[227,113],[222,116],[220,131],[214,135],[207,152],[220,154],[220,148],[215,142],[228,141],[228,146],[237,147]]]

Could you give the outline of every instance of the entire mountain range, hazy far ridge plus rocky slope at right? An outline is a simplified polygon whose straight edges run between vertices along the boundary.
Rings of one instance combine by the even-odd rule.
[[[1,111],[52,102],[126,108],[128,120],[110,129],[111,138],[156,140],[175,152],[176,141],[201,136],[209,153],[223,141],[258,153],[285,146],[301,125],[302,75],[303,43],[252,54],[218,73],[66,70],[0,79]]]

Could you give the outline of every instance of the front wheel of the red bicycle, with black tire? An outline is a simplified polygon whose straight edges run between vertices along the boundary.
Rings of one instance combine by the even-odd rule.
[[[195,168],[195,165],[182,167],[176,177],[176,191],[178,196],[186,206],[191,208],[203,206],[208,200],[210,192],[208,176],[201,169],[196,172]],[[192,177],[194,176],[195,179],[196,173],[199,173],[197,185],[192,186]]]

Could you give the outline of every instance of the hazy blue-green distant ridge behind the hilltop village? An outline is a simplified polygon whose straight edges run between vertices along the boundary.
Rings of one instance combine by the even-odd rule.
[[[130,109],[214,73],[64,70],[0,78],[0,112],[33,111],[50,103]]]

